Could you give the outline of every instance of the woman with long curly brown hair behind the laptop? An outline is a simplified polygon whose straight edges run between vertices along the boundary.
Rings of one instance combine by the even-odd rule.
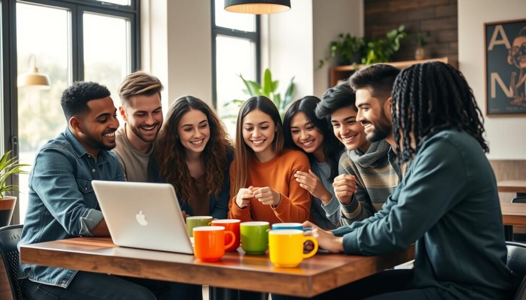
[[[160,180],[174,186],[185,216],[226,219],[233,150],[216,113],[200,99],[180,97],[157,141]]]

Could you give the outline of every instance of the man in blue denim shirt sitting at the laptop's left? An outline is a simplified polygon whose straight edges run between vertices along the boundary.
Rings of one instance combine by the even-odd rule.
[[[19,245],[109,236],[91,184],[92,180],[124,180],[115,154],[109,152],[119,127],[109,96],[108,89],[95,82],[75,82],[63,92],[60,104],[68,126],[36,154]],[[135,280],[136,284],[108,274],[26,264],[19,264],[18,277],[23,292],[33,300],[156,299],[144,286],[159,286],[146,280]]]

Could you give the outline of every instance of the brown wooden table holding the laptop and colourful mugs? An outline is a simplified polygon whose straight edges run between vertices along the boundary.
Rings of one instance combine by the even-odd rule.
[[[414,247],[382,256],[317,254],[296,268],[278,268],[268,255],[226,253],[205,263],[193,255],[118,247],[108,238],[78,237],[25,245],[21,261],[97,273],[312,297],[414,258]]]

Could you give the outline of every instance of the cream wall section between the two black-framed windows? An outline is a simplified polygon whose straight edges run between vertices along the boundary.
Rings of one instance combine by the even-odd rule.
[[[211,3],[141,1],[143,70],[165,85],[163,107],[183,95],[212,104]]]

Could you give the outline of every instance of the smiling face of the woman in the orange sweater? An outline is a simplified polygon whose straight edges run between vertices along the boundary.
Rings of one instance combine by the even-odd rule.
[[[269,115],[259,109],[252,110],[243,118],[242,128],[243,140],[259,161],[267,161],[276,155],[272,147],[276,126]]]

